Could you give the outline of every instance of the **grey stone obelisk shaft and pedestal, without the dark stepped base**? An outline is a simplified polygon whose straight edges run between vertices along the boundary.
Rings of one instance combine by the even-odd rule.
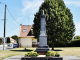
[[[40,35],[39,35],[39,46],[47,46],[47,34],[45,27],[45,18],[44,10],[42,11],[41,17],[41,27],[40,27]]]

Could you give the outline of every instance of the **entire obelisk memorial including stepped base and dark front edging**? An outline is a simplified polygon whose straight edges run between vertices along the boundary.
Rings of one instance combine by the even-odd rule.
[[[55,57],[55,56],[45,56],[46,53],[50,50],[47,45],[47,34],[46,34],[46,26],[45,26],[45,14],[44,10],[42,10],[41,14],[41,25],[40,25],[40,35],[39,35],[39,46],[36,48],[36,53],[38,53],[38,56],[25,56],[22,57],[21,60],[63,60],[62,57]],[[45,57],[43,57],[43,55]]]

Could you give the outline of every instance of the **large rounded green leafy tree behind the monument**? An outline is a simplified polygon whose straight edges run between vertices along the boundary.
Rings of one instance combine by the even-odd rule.
[[[72,13],[66,8],[63,0],[44,0],[34,17],[33,32],[35,38],[39,39],[42,10],[46,15],[47,40],[52,41],[52,50],[54,50],[53,42],[67,43],[70,41],[74,36],[75,25]]]

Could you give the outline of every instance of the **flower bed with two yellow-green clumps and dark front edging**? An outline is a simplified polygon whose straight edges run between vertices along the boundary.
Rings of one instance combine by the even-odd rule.
[[[25,57],[22,57],[21,60],[63,60],[62,57],[59,57],[59,52],[48,51],[46,57],[37,57],[39,54],[37,52],[31,51],[25,54]]]

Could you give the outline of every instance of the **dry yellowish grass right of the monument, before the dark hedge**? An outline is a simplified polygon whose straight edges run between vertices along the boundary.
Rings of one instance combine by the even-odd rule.
[[[59,51],[61,56],[67,55],[67,56],[78,56],[80,57],[80,47],[62,47],[62,48],[55,48],[57,50],[62,50]]]

